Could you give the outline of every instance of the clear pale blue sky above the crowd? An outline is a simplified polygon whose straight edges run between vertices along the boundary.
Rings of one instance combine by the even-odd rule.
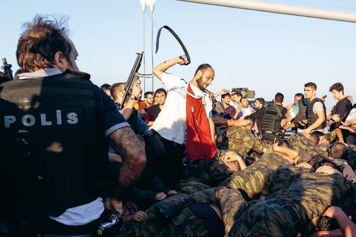
[[[270,2],[356,13],[351,0],[271,0]],[[304,3],[309,2],[309,3]],[[324,6],[329,5],[329,6]],[[1,12],[0,57],[14,65],[21,25],[36,13],[64,14],[78,52],[78,67],[97,85],[127,80],[136,52],[143,50],[142,10],[139,0],[119,1],[5,1]],[[341,82],[346,95],[356,97],[356,23],[313,19],[174,0],[157,0],[153,12],[153,44],[159,27],[170,26],[188,49],[192,63],[175,65],[169,73],[190,80],[196,67],[215,69],[207,89],[248,87],[256,98],[272,100],[277,92],[284,104],[313,81],[317,95],[328,95],[326,107],[336,101],[329,86]],[[151,19],[145,14],[146,73],[151,70]],[[182,55],[176,39],[162,30],[153,65]],[[143,65],[140,72],[143,73]],[[154,79],[154,89],[161,87]],[[143,83],[141,84],[143,88]],[[146,91],[151,90],[151,79]],[[356,99],[356,98],[355,98]]]

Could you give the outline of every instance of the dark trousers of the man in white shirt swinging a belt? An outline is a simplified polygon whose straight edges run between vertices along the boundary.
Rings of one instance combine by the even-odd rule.
[[[153,168],[167,188],[174,190],[182,179],[184,144],[169,141],[153,129],[148,131],[148,143],[152,149]]]

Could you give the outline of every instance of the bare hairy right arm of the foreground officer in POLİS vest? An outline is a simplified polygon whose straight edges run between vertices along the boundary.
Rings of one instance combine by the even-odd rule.
[[[125,190],[137,180],[146,165],[146,152],[130,127],[123,127],[109,135],[109,141],[122,157],[115,197],[120,199]],[[135,146],[135,149],[133,149]]]

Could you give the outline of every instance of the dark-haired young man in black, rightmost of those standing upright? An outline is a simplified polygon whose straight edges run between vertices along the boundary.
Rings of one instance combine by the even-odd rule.
[[[352,109],[352,104],[351,101],[345,97],[344,86],[341,83],[338,82],[333,84],[332,86],[330,86],[329,91],[333,93],[334,99],[338,100],[333,110],[331,111],[332,115],[328,115],[326,118],[327,120],[333,120],[335,122],[330,126],[331,132],[338,128],[341,125],[341,122],[345,122],[347,115],[349,115]],[[342,137],[344,137],[344,141],[346,141],[347,136],[349,136],[350,132],[347,130],[341,130],[341,132]]]

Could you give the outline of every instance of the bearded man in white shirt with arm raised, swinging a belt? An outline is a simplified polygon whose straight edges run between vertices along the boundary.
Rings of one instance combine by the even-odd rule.
[[[205,120],[208,118],[211,142],[215,136],[214,123],[211,118],[213,105],[210,96],[203,92],[214,79],[213,68],[209,64],[199,65],[194,78],[188,82],[166,73],[166,70],[175,64],[185,65],[187,61],[175,57],[153,69],[153,73],[169,91],[162,111],[148,132],[148,140],[153,148],[154,167],[169,188],[174,188],[182,174],[184,141],[187,137],[187,91],[193,92],[188,92],[190,96],[196,99],[201,98],[201,103],[204,105],[204,110],[201,112],[204,112]]]

